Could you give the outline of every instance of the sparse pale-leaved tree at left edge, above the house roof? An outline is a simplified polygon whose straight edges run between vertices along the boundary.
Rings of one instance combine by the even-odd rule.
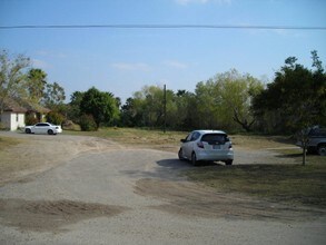
[[[11,58],[6,50],[0,51],[0,114],[7,99],[24,97],[23,82],[29,66],[30,59],[23,55]]]

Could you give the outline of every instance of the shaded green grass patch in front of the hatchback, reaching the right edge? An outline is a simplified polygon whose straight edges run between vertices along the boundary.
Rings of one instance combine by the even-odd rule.
[[[326,207],[326,164],[218,165],[192,168],[186,175],[218,192],[244,193],[273,202]]]

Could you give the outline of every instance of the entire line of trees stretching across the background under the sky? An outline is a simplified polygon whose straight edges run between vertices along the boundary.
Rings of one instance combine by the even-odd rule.
[[[195,91],[145,86],[124,105],[113,94],[95,87],[75,91],[65,104],[65,89],[48,82],[45,71],[29,68],[28,58],[19,55],[10,59],[2,51],[0,59],[0,112],[4,98],[23,98],[50,108],[57,115],[53,119],[60,120],[57,122],[72,120],[82,130],[166,125],[171,130],[293,134],[303,127],[326,125],[326,74],[317,51],[312,51],[312,68],[295,57],[287,58],[267,85],[231,69],[199,81]]]

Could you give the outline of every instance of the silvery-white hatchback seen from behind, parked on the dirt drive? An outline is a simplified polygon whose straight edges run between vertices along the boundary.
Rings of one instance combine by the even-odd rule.
[[[179,159],[191,160],[197,165],[200,160],[224,161],[231,165],[234,149],[230,139],[220,130],[195,130],[186,139],[181,139]]]

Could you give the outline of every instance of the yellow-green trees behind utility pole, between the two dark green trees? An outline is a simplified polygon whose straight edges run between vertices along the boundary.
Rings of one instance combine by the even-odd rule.
[[[217,75],[196,86],[195,94],[167,90],[166,124],[168,128],[224,128],[250,130],[253,97],[263,85],[249,75],[236,70]],[[122,124],[158,128],[164,124],[164,89],[146,86],[129,98],[121,108]]]

